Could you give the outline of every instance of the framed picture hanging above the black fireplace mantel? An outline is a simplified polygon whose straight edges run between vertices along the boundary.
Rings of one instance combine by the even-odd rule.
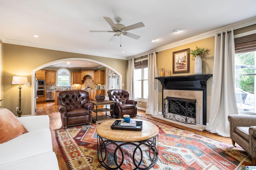
[[[173,66],[172,73],[189,72],[189,49],[184,49],[172,53]]]

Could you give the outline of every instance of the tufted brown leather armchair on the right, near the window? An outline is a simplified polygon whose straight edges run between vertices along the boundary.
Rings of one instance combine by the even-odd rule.
[[[137,115],[137,101],[129,100],[128,90],[108,90],[109,100],[115,101],[116,104],[113,106],[110,105],[110,109],[114,110],[114,115],[118,118],[123,117],[123,115],[136,116]],[[110,114],[113,115],[113,111],[110,111]]]

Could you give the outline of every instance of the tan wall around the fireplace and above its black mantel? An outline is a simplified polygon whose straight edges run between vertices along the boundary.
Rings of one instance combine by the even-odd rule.
[[[212,74],[213,73],[213,63],[214,63],[214,37],[202,39],[200,41],[195,41],[193,43],[188,43],[186,45],[181,45],[179,47],[175,47],[172,49],[164,50],[158,52],[156,55],[156,65],[157,68],[165,68],[165,70],[170,70],[172,72],[172,53],[175,51],[180,51],[183,49],[196,49],[197,47],[206,47],[210,49],[210,59],[202,62],[202,74]],[[190,72],[189,73],[179,73],[173,74],[173,76],[182,76],[182,75],[192,75],[194,74],[194,63],[195,60],[192,59],[192,55],[190,55]],[[212,78],[207,81],[207,122],[210,112],[210,103],[212,96]],[[158,93],[159,93],[159,111],[162,112],[162,85],[158,81]]]

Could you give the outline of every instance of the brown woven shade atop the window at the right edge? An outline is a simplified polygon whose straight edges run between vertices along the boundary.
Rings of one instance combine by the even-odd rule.
[[[235,52],[246,53],[256,51],[256,33],[235,38]]]

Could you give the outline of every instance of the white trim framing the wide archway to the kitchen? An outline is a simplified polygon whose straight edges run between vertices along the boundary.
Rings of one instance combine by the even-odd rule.
[[[35,115],[35,104],[36,104],[36,94],[35,94],[35,80],[36,80],[36,71],[42,69],[42,68],[45,68],[47,66],[50,66],[52,64],[56,64],[56,63],[60,63],[60,62],[63,62],[63,61],[70,61],[70,60],[82,60],[82,61],[90,61],[90,62],[93,62],[93,63],[98,63],[98,64],[101,64],[102,66],[105,66],[106,68],[109,68],[110,70],[113,70],[114,72],[116,72],[116,74],[118,74],[118,76],[120,76],[120,82],[122,82],[122,75],[116,71],[114,68],[112,68],[111,66],[108,66],[107,64],[105,63],[101,63],[100,61],[96,61],[96,60],[92,60],[92,59],[85,59],[85,58],[68,58],[68,59],[60,59],[60,60],[56,60],[56,61],[51,61],[49,63],[46,63],[46,64],[43,64],[35,69],[32,70],[32,80],[31,80],[31,115]]]

